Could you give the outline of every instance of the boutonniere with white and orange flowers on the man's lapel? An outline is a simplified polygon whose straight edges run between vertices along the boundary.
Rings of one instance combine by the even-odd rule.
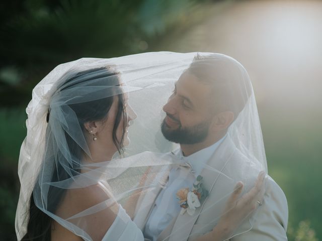
[[[177,192],[181,207],[180,214],[183,215],[187,211],[189,215],[193,215],[196,208],[201,206],[201,203],[208,194],[209,192],[203,188],[202,176],[199,175],[191,190],[189,188],[182,188]]]

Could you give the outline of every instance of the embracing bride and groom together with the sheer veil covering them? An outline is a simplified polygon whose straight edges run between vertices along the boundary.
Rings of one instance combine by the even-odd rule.
[[[18,240],[287,240],[253,87],[231,57],[64,63],[27,114]]]

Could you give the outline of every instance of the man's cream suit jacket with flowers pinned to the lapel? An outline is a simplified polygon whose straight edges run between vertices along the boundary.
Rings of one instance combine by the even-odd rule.
[[[169,154],[173,155],[173,154]],[[246,187],[253,187],[260,170],[232,143],[229,135],[218,147],[203,169],[203,185],[209,190],[209,196],[190,216],[187,212],[175,217],[157,240],[189,240],[213,229],[225,207],[225,201],[237,181],[243,181]],[[187,170],[188,171],[188,170]],[[245,175],[247,173],[247,175]],[[249,191],[244,190],[244,193]],[[134,222],[144,230],[147,217],[161,187],[155,188],[139,198]],[[225,198],[223,198],[225,197]],[[176,201],[176,200],[174,200]],[[287,240],[286,228],[288,208],[286,197],[276,182],[268,176],[263,205],[258,208],[250,220],[245,221],[230,238],[232,241],[281,241]]]

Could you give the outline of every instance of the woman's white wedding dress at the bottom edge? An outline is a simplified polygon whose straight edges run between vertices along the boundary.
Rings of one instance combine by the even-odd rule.
[[[143,241],[142,231],[131,220],[121,205],[118,214],[102,241]]]

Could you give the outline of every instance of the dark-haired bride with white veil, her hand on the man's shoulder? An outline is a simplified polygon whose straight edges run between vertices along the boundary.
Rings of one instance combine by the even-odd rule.
[[[178,165],[159,154],[173,147],[157,126],[169,86],[191,56],[80,59],[34,88],[19,158],[18,240],[144,240],[131,217],[138,197]],[[264,176],[241,198],[237,183],[217,225],[196,240],[228,238],[262,200]]]

